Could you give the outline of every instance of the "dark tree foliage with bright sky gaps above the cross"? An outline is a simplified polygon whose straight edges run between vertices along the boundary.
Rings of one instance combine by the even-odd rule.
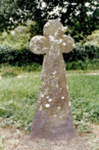
[[[98,0],[99,1],[99,0]],[[99,3],[95,0],[1,0],[0,31],[9,31],[33,20],[33,34],[42,34],[48,19],[60,19],[76,41],[99,29]]]

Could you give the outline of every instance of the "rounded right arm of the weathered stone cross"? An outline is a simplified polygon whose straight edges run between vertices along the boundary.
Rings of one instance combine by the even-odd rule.
[[[69,53],[70,51],[72,51],[74,49],[74,46],[75,46],[74,40],[67,35],[63,35],[62,52]]]

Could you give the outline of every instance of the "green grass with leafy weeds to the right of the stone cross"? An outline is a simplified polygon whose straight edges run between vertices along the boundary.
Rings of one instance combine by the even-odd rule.
[[[67,79],[74,119],[81,121],[85,117],[99,123],[99,75],[74,75]]]

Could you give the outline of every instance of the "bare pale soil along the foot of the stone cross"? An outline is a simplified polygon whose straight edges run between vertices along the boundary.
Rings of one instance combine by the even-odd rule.
[[[92,133],[82,133],[72,140],[30,141],[30,135],[13,128],[0,128],[0,150],[99,150],[99,125]]]

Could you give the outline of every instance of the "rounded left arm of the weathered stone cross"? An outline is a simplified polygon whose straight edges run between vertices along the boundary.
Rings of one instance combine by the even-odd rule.
[[[45,54],[47,52],[46,37],[35,36],[30,41],[30,50],[35,54]]]

